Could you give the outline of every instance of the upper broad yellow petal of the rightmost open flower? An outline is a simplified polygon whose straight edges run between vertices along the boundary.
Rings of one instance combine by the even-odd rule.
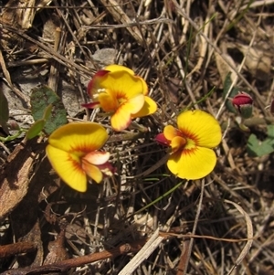
[[[205,111],[184,111],[177,117],[179,130],[184,137],[195,141],[195,145],[213,148],[222,139],[219,123]]]

